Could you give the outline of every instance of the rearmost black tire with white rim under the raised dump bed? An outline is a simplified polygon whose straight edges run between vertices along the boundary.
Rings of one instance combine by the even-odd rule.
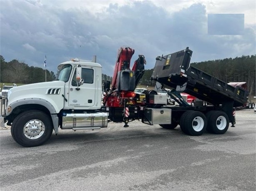
[[[208,121],[207,128],[214,134],[224,134],[228,130],[228,115],[223,111],[214,111]]]

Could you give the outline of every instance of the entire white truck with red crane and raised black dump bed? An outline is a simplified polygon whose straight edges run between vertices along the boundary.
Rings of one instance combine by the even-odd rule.
[[[154,90],[135,93],[144,73],[143,55],[130,69],[134,50],[121,47],[118,51],[112,88],[101,84],[101,65],[93,61],[72,59],[59,64],[58,81],[35,83],[12,88],[1,103],[2,116],[11,125],[13,139],[24,147],[45,143],[54,130],[94,130],[108,122],[140,120],[148,125],[174,129],[180,125],[188,135],[202,135],[205,130],[223,134],[229,123],[234,125],[234,107],[242,105],[248,91],[227,83],[190,66],[192,51],[158,56],[151,80],[173,88],[168,95],[179,106],[166,105],[167,95]],[[188,93],[211,105],[191,106],[181,92]],[[103,105],[102,105],[102,96]]]

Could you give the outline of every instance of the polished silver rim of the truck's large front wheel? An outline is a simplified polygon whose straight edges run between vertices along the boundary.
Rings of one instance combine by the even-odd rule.
[[[23,133],[28,139],[38,139],[45,132],[45,125],[38,119],[28,121],[23,127]]]

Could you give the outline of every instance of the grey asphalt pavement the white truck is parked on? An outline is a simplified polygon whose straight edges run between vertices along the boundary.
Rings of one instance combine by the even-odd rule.
[[[224,135],[198,137],[131,122],[60,130],[39,147],[0,130],[1,191],[255,191],[256,114],[236,112]]]

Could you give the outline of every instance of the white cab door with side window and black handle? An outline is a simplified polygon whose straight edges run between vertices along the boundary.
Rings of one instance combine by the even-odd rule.
[[[83,67],[81,76],[84,83],[77,87],[76,70],[74,71],[69,84],[68,105],[86,109],[95,105],[95,71],[93,68]]]

